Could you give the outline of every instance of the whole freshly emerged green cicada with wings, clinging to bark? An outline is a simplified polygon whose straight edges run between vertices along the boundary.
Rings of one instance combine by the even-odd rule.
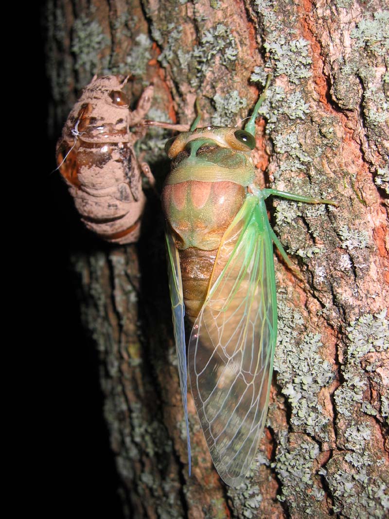
[[[172,162],[162,204],[189,467],[187,370],[213,463],[233,487],[251,466],[269,404],[277,336],[273,243],[288,262],[265,200],[336,205],[254,184],[251,151],[265,95],[266,89],[244,130],[196,128],[197,118],[165,146]]]

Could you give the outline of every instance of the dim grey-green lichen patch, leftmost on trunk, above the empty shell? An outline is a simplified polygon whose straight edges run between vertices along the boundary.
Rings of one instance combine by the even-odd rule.
[[[109,56],[103,58],[101,52],[108,44],[109,38],[98,21],[84,15],[75,20],[72,38],[72,52],[76,57],[74,67],[79,73],[82,70],[78,87],[85,85],[85,77],[90,79],[99,71],[107,69]]]

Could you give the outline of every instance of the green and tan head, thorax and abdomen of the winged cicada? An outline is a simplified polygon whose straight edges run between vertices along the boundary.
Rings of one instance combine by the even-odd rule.
[[[254,179],[249,157],[254,144],[247,146],[245,139],[245,132],[235,128],[207,127],[182,133],[170,143],[172,170],[162,204],[179,253],[191,324],[210,288],[221,239]]]

